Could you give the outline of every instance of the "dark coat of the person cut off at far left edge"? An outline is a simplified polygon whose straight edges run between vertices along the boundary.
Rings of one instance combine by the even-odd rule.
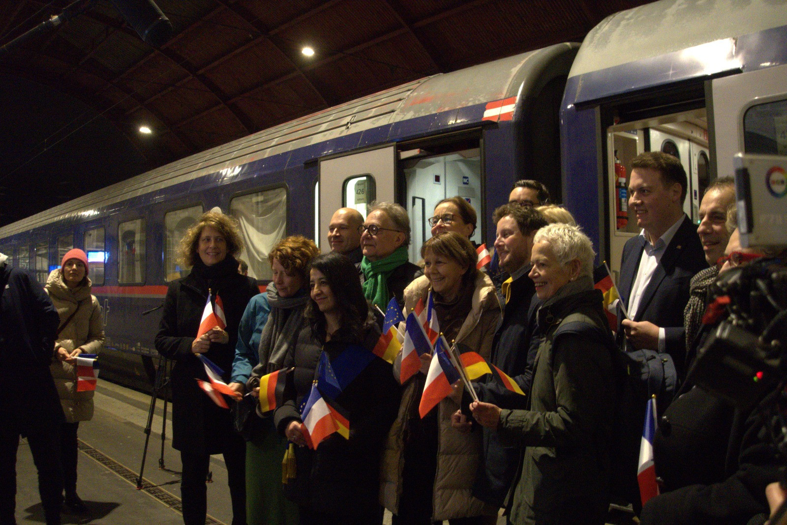
[[[63,421],[49,368],[60,316],[39,283],[3,262],[0,287],[0,420],[23,431],[51,428]]]

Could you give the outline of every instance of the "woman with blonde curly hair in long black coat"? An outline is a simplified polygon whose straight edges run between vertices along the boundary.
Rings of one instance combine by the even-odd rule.
[[[249,299],[259,292],[257,281],[238,274],[235,255],[243,241],[234,218],[208,211],[188,229],[180,243],[180,259],[191,267],[187,277],[172,281],[164,299],[164,313],[156,336],[156,350],[173,359],[172,448],[180,451],[183,480],[183,523],[204,525],[207,512],[208,463],[212,454],[224,454],[232,498],[232,525],[246,523],[246,445],[235,432],[230,411],[216,406],[201,391],[197,379],[208,380],[198,354],[204,354],[229,379],[238,323]],[[216,326],[196,339],[202,311],[219,296],[227,328]],[[235,386],[237,389],[237,384]]]

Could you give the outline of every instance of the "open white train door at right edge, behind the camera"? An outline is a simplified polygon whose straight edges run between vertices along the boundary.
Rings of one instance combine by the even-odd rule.
[[[787,65],[714,79],[711,97],[719,175],[738,152],[787,155]]]

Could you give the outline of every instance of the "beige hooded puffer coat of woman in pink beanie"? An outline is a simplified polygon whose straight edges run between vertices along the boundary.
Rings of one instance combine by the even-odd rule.
[[[68,351],[81,348],[83,354],[98,354],[104,344],[104,323],[98,299],[91,296],[91,280],[86,278],[87,285],[70,289],[63,281],[63,274],[58,268],[52,270],[46,280],[46,293],[49,294],[62,323],[79,307],[76,315],[68,321],[57,336],[54,347],[63,347]],[[81,306],[80,306],[81,305]],[[76,391],[76,367],[55,358],[50,365],[57,395],[63,406],[65,420],[68,423],[91,420],[93,417],[93,391]]]

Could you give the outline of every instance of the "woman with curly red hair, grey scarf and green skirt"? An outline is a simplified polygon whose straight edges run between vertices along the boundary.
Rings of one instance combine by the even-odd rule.
[[[276,370],[293,368],[296,383],[312,384],[320,345],[304,317],[309,301],[309,262],[320,254],[314,241],[294,235],[276,244],[268,254],[273,281],[266,296],[271,312],[260,333],[257,365],[246,388],[256,399],[260,377]],[[257,413],[249,424],[246,444],[246,493],[249,525],[296,523],[297,508],[284,499],[282,457],[286,440],[275,430],[272,413]]]

